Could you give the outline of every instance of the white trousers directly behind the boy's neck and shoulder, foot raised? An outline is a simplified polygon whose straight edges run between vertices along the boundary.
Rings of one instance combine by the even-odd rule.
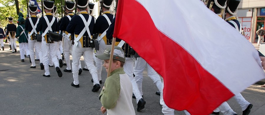
[[[136,103],[138,103],[138,101],[143,97],[139,91],[135,78],[133,77],[133,64],[134,60],[131,57],[125,57],[125,63],[123,65],[123,69],[124,72],[129,76],[130,81],[132,82],[132,92],[136,97]]]

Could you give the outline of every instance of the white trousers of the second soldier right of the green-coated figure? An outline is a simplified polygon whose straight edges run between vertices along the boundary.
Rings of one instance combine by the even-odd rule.
[[[45,75],[50,75],[49,71],[49,56],[52,59],[52,62],[54,64],[54,68],[59,67],[59,62],[56,57],[57,52],[57,43],[44,43],[45,41],[42,41],[42,58],[43,58],[43,65],[45,70]]]

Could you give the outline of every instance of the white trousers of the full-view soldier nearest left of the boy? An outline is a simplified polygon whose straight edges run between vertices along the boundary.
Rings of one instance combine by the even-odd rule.
[[[92,78],[94,80],[93,85],[99,84],[99,80],[97,77],[97,69],[93,62],[93,50],[91,47],[82,47],[80,41],[78,41],[77,47],[73,47],[73,63],[72,63],[72,73],[74,78],[74,84],[78,85],[78,70],[80,65],[80,57],[84,57],[84,60],[86,61],[87,67],[89,69],[90,74],[92,75]]]

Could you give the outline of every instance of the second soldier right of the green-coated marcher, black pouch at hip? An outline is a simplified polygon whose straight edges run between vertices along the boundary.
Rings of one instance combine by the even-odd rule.
[[[49,56],[52,58],[55,69],[59,77],[62,77],[62,72],[59,68],[59,62],[56,57],[57,43],[49,38],[49,31],[58,32],[59,31],[59,19],[52,16],[52,9],[54,7],[54,1],[43,1],[44,11],[46,15],[39,19],[37,24],[37,31],[42,31],[42,57],[45,73],[43,76],[50,77],[49,72]],[[48,54],[49,53],[49,54]]]

